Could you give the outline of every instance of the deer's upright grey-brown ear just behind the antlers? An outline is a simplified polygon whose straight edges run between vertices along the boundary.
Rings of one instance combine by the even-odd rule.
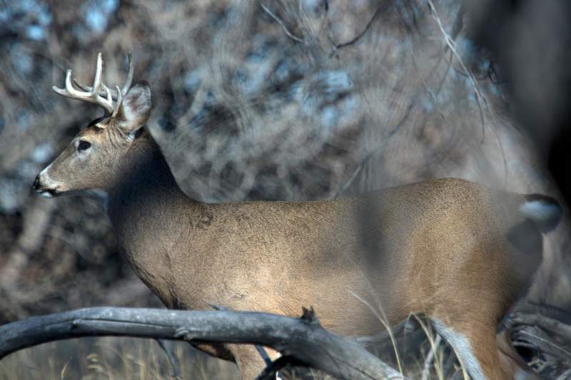
[[[151,106],[151,87],[146,81],[136,83],[121,102],[118,127],[126,133],[135,132],[147,122]]]

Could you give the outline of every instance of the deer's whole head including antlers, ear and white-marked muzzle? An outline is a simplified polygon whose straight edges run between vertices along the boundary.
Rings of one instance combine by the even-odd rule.
[[[105,113],[81,130],[66,149],[34,180],[34,189],[52,197],[71,190],[103,189],[116,180],[118,166],[138,138],[138,131],[151,113],[151,88],[146,81],[133,81],[133,60],[128,54],[129,69],[122,88],[108,88],[103,83],[103,60],[97,56],[93,86],[66,74],[66,87],[52,89],[66,98],[88,101],[101,106]],[[80,89],[76,88],[79,87]]]

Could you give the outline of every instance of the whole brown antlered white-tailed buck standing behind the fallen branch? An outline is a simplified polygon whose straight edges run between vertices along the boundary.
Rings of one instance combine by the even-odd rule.
[[[131,61],[131,60],[130,60]],[[533,377],[504,334],[502,317],[540,263],[542,233],[561,209],[458,179],[433,180],[336,200],[206,204],[188,198],[150,133],[146,82],[54,91],[106,113],[82,130],[34,188],[42,195],[98,188],[138,276],[170,308],[297,315],[313,306],[344,335],[424,313],[473,379]],[[263,361],[251,346],[204,345],[236,359],[246,379]],[[521,377],[519,377],[521,376]]]

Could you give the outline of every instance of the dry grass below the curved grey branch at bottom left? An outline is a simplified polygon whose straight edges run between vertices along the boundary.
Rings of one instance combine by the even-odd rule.
[[[240,379],[236,365],[215,359],[184,342],[170,342],[183,379]],[[0,379],[119,380],[169,379],[173,369],[149,339],[84,338],[51,342],[0,361]]]

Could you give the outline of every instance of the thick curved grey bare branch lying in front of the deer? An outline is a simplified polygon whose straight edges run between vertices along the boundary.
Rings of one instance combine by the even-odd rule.
[[[403,379],[362,346],[323,329],[308,310],[298,319],[228,310],[78,309],[4,324],[0,358],[44,342],[107,335],[261,344],[338,379]]]

